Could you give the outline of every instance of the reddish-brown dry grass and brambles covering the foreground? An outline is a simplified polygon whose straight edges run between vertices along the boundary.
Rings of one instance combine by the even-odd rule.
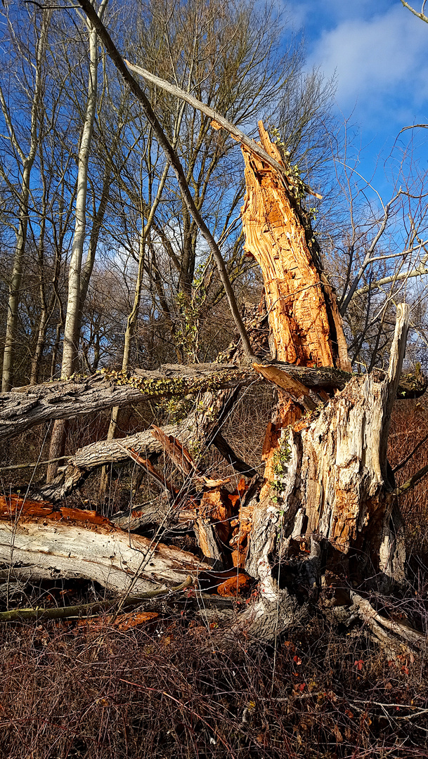
[[[0,757],[426,757],[426,663],[321,619],[272,650],[209,650],[181,609],[118,633],[3,628]],[[201,645],[203,643],[203,645]]]

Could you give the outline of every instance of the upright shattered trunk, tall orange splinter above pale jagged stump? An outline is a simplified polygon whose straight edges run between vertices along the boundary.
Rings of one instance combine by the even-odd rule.
[[[263,148],[281,161],[261,122],[259,126]],[[292,364],[348,370],[335,292],[301,209],[299,182],[287,181],[246,148],[243,152],[246,248],[263,271],[271,352]],[[399,307],[386,378],[373,373],[355,377],[330,398],[321,391],[314,411],[305,404],[305,398],[311,398],[307,389],[301,387],[296,402],[299,390],[288,388],[287,382],[282,385],[285,392],[278,394],[266,431],[263,488],[241,515],[237,552],[239,564],[260,580],[255,619],[259,626],[263,619],[265,631],[269,612],[276,629],[290,622],[293,605],[281,589],[281,564],[299,552],[304,559],[308,548],[313,566],[318,562],[308,575],[312,581],[317,581],[320,569],[316,546],[323,544],[329,546],[329,561],[335,559],[342,571],[377,574],[382,581],[403,576],[401,524],[386,444],[407,324],[408,308]],[[256,368],[278,384],[277,377],[269,377],[272,367]]]

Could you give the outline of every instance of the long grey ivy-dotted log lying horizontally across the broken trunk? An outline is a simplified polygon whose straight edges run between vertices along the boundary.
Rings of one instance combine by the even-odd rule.
[[[310,389],[342,389],[352,376],[331,367],[313,369],[281,362],[272,362],[269,366]],[[165,365],[159,372],[138,370],[132,376],[105,371],[89,377],[15,388],[0,393],[0,441],[52,419],[70,419],[143,399],[243,387],[257,381],[262,381],[260,373],[250,366],[195,364],[192,367]],[[398,398],[408,397],[407,389],[401,390],[398,386],[397,392]]]

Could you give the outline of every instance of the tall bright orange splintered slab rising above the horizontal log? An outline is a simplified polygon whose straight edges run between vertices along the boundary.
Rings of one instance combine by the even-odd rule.
[[[266,153],[281,163],[279,150],[269,140],[262,121],[259,131]],[[279,172],[246,147],[242,152],[247,184],[242,208],[245,250],[263,272],[272,356],[291,364],[346,370],[349,365],[337,307],[329,303],[331,288],[313,260],[290,187]]]

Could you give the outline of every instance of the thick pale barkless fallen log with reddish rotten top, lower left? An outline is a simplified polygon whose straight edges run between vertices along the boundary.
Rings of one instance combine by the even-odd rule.
[[[127,594],[167,591],[209,565],[175,546],[130,535],[96,512],[0,497],[0,562],[10,578],[87,578]]]

